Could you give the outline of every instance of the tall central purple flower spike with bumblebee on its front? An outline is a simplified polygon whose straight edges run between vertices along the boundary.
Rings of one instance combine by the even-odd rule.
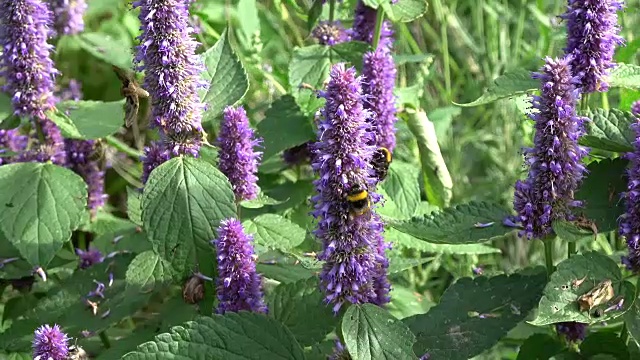
[[[313,216],[319,219],[314,234],[323,244],[318,258],[325,261],[320,288],[335,312],[345,302],[381,305],[388,301],[386,262],[381,260],[386,247],[382,221],[372,210],[354,216],[346,201],[354,186],[373,189],[377,181],[370,165],[375,146],[362,105],[361,83],[354,68],[333,66],[327,90],[322,92],[326,104],[318,123],[318,141],[312,145],[312,167],[320,176],[314,181],[317,194],[312,198]],[[380,200],[379,195],[369,194],[373,204]]]

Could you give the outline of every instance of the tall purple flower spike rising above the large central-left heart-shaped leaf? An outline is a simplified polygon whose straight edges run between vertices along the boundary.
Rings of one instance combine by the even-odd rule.
[[[144,88],[151,95],[152,126],[161,140],[145,149],[143,181],[173,156],[197,157],[203,138],[204,104],[198,89],[203,64],[195,54],[198,43],[189,25],[190,0],[137,0],[142,24],[135,61],[144,70]],[[159,156],[162,154],[162,156]],[[168,156],[166,156],[168,154]]]

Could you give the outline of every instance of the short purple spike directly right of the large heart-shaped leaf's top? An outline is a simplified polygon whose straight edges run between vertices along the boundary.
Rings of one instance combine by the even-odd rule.
[[[262,153],[253,149],[260,142],[261,139],[255,137],[249,126],[247,113],[242,106],[224,109],[218,136],[218,168],[229,178],[238,201],[252,200],[258,196],[256,173]]]

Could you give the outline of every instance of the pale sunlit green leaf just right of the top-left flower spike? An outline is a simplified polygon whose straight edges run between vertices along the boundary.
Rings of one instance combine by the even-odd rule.
[[[67,138],[75,139],[99,139],[113,135],[124,122],[124,100],[104,101],[63,101],[58,103],[58,113],[52,120],[58,124],[61,122],[59,113],[63,113],[66,119],[58,124]]]

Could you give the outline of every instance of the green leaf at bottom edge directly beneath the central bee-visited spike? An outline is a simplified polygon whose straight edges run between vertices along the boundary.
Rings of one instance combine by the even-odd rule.
[[[351,305],[342,317],[345,347],[353,360],[417,359],[415,336],[402,321],[373,305]]]

